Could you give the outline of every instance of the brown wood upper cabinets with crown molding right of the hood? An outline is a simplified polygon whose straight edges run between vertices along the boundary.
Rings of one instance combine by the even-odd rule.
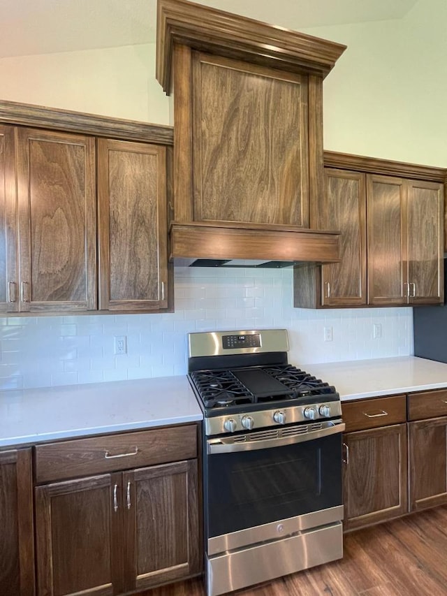
[[[318,217],[342,231],[342,260],[297,266],[295,307],[442,303],[444,170],[330,152],[325,161],[337,168],[325,169]]]

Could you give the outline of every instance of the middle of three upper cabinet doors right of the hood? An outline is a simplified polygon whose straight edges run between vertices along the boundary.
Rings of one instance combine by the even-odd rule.
[[[367,175],[368,303],[406,304],[405,186],[401,178]]]

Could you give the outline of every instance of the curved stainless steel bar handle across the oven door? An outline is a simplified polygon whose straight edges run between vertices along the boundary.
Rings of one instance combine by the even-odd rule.
[[[235,453],[235,451],[254,451],[255,449],[270,449],[272,447],[281,447],[284,445],[293,445],[294,443],[305,443],[314,439],[321,439],[329,435],[343,433],[346,425],[344,422],[335,423],[334,426],[323,428],[321,430],[312,430],[310,433],[295,435],[293,437],[278,437],[276,439],[264,439],[261,441],[244,441],[236,443],[223,442],[225,439],[208,439],[207,453]]]

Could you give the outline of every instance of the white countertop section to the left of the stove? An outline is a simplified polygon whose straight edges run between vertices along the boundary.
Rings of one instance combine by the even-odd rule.
[[[1,391],[0,447],[202,419],[185,376]]]

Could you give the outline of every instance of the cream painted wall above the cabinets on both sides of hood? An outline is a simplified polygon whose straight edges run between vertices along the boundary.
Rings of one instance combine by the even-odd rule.
[[[256,18],[256,14],[252,15]],[[328,150],[447,166],[447,2],[305,32],[348,49],[324,84]],[[153,44],[0,59],[1,99],[172,124]]]

